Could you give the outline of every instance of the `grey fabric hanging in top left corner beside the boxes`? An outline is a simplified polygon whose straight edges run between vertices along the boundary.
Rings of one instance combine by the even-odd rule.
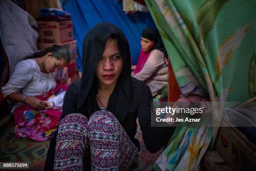
[[[31,15],[9,0],[0,0],[0,38],[8,57],[9,77],[18,62],[37,50],[38,37]]]

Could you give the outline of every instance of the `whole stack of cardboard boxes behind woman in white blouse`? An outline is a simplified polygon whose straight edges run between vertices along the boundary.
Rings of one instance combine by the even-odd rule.
[[[69,49],[71,60],[67,65],[69,78],[74,82],[77,79],[77,41],[73,38],[72,20],[69,21],[38,21],[40,43],[38,49],[44,50],[54,44],[66,46]]]

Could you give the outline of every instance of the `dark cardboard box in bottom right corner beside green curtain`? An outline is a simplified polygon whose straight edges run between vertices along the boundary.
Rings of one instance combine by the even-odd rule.
[[[235,127],[225,127],[223,120],[215,142],[215,149],[233,171],[256,171],[256,145]]]

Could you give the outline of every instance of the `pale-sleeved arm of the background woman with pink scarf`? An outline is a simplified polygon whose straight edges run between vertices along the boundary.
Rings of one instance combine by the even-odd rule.
[[[159,69],[159,66],[161,66],[162,64],[164,64],[164,53],[158,49],[154,49],[148,56],[148,59],[141,71],[136,74],[134,74],[133,72],[132,77],[142,82],[146,81]]]

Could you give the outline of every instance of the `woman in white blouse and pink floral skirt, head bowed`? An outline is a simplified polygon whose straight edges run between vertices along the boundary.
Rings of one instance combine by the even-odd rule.
[[[56,71],[69,63],[70,53],[66,47],[55,45],[28,58],[15,66],[2,93],[6,100],[15,102],[11,110],[14,136],[45,141],[53,137],[61,116],[61,105],[54,107],[49,98],[63,94],[68,87],[56,83]]]

